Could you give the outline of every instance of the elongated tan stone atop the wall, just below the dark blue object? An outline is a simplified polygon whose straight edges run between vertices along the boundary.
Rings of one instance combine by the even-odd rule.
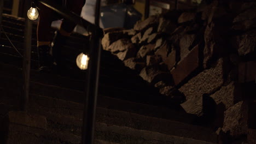
[[[157,26],[159,23],[158,16],[150,16],[148,19],[144,21],[139,21],[135,24],[134,28],[136,31],[142,31],[151,26]]]

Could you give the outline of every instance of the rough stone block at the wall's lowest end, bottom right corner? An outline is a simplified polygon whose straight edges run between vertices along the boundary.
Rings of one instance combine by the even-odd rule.
[[[224,112],[223,131],[230,130],[232,136],[246,135],[247,120],[248,105],[245,101],[240,101]]]

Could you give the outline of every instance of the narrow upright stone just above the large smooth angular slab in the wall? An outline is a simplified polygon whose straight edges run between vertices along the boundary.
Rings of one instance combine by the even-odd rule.
[[[185,34],[179,41],[179,47],[181,47],[181,59],[189,54],[189,47],[193,44],[196,38],[195,34]]]

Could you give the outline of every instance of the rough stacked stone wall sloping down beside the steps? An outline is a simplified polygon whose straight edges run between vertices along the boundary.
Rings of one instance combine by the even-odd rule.
[[[213,1],[169,11],[133,29],[108,30],[103,49],[199,116],[199,123],[237,139],[247,135],[248,107],[255,104],[255,91],[247,92],[256,81],[255,6]]]

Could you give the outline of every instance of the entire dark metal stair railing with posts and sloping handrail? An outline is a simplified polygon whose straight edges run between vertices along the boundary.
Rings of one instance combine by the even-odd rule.
[[[101,58],[101,38],[103,35],[102,29],[99,27],[100,22],[100,0],[96,0],[95,9],[95,24],[92,24],[80,17],[77,14],[71,13],[67,9],[55,5],[52,1],[47,0],[34,0],[44,4],[46,7],[56,11],[62,15],[65,19],[77,23],[77,25],[85,28],[90,28],[91,41],[89,56],[90,62],[88,65],[86,75],[85,86],[85,101],[84,101],[84,116],[82,127],[82,143],[91,144],[94,143],[94,128],[95,128],[95,113],[98,95],[98,78],[100,73],[100,58]],[[31,7],[31,0],[25,1],[25,9]],[[2,22],[3,13],[3,0],[0,0],[0,25]],[[26,16],[25,20],[25,40],[24,40],[24,56],[23,56],[23,69],[22,74],[24,76],[24,87],[22,94],[22,106],[21,109],[27,111],[28,100],[30,92],[30,70],[31,70],[31,39],[32,39],[32,21]]]

